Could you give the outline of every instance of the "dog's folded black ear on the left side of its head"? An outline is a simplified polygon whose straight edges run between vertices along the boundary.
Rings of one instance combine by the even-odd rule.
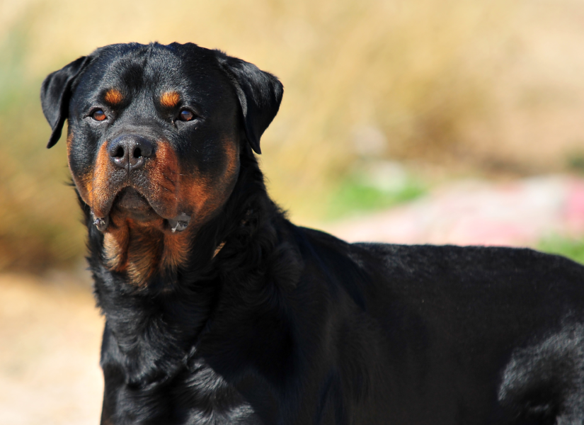
[[[61,137],[63,124],[69,115],[69,99],[71,98],[71,87],[81,71],[90,62],[86,56],[74,60],[65,65],[59,71],[49,74],[45,81],[42,81],[40,88],[40,103],[42,113],[51,125],[52,133],[47,148],[55,146]]]

